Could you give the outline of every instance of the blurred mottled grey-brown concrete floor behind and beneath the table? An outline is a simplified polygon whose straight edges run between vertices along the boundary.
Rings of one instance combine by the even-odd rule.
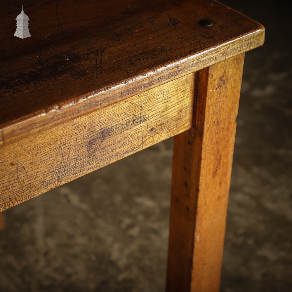
[[[291,18],[283,7],[241,2],[223,1],[267,33],[263,47],[246,53],[220,291],[288,292]],[[164,291],[172,144],[5,211],[0,291]]]

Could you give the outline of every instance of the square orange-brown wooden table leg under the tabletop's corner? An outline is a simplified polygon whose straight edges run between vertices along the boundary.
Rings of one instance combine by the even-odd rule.
[[[244,54],[199,71],[195,127],[174,140],[166,291],[219,291]]]

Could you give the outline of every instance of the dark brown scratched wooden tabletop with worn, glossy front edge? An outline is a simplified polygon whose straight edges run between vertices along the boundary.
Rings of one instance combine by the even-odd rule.
[[[0,147],[264,40],[262,25],[213,0],[18,2],[0,0]],[[20,4],[26,39],[13,36]]]

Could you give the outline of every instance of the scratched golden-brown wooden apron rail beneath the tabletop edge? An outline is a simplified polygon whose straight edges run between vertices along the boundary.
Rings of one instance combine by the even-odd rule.
[[[185,131],[193,103],[189,74],[0,149],[0,211]]]

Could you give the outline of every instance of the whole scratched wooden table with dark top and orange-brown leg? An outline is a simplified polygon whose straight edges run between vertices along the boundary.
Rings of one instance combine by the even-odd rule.
[[[244,53],[213,0],[24,1],[0,12],[0,211],[175,136],[167,291],[218,291]]]

